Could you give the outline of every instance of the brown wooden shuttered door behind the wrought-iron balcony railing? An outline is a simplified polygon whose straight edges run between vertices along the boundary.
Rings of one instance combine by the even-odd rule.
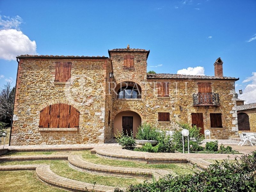
[[[212,104],[212,84],[198,83],[198,99],[201,105]]]

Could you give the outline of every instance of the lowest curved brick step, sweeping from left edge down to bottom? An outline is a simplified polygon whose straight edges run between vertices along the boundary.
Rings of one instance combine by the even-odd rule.
[[[63,188],[69,191],[94,191],[94,192],[113,192],[115,187],[106,185],[94,185],[82,181],[72,180],[61,177],[50,169],[50,165],[4,165],[0,166],[0,171],[21,171],[36,170],[36,175],[43,182],[54,187]],[[123,188],[124,189],[124,188]]]

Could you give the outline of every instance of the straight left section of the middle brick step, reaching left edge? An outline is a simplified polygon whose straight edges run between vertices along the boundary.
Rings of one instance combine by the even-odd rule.
[[[68,155],[4,156],[1,161],[68,160]]]

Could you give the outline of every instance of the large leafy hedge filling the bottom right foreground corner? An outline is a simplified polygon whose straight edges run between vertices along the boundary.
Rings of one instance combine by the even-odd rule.
[[[256,189],[256,151],[242,156],[239,161],[216,162],[202,172],[173,177],[167,175],[158,181],[145,181],[131,185],[128,192],[171,192],[171,191],[255,191]],[[122,190],[115,190],[122,192]]]

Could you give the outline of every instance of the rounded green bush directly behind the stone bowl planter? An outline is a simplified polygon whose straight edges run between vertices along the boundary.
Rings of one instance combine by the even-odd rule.
[[[159,135],[160,132],[158,132],[155,127],[152,127],[148,123],[143,123],[138,129],[138,133],[136,133],[136,139],[157,141]]]

